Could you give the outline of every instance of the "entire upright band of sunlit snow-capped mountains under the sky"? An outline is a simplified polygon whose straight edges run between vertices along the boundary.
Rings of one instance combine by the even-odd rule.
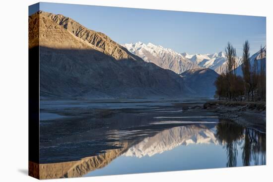
[[[225,71],[226,56],[219,52],[214,54],[195,54],[177,53],[172,49],[163,48],[152,43],[147,45],[141,42],[122,45],[134,55],[142,58],[146,62],[153,62],[156,65],[170,69],[177,74],[181,74],[189,69],[209,68],[221,74]],[[241,64],[241,58],[236,59],[236,64]]]

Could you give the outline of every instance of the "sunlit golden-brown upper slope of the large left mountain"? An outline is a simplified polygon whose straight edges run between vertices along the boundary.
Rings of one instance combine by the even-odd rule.
[[[30,31],[32,31],[32,27],[37,29],[37,24],[31,20],[40,19],[40,46],[69,49],[91,47],[106,55],[112,56],[117,60],[141,60],[131,54],[127,49],[111,40],[105,34],[87,29],[78,22],[62,14],[56,15],[39,11],[29,19],[31,24]],[[59,26],[57,26],[56,23]],[[76,39],[71,39],[71,35],[69,34],[73,35]]]

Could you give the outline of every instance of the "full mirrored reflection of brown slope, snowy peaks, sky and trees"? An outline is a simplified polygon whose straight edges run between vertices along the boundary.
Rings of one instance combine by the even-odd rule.
[[[119,134],[123,138],[128,133],[117,131],[113,136]],[[120,148],[78,161],[41,164],[41,179],[266,164],[266,134],[228,121],[188,124],[142,136],[117,141]]]

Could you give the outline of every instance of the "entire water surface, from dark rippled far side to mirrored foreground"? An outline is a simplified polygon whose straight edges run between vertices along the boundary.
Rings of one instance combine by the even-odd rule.
[[[213,113],[187,111],[181,102],[42,102],[40,162],[54,169],[45,166],[45,177],[266,164],[265,133]]]

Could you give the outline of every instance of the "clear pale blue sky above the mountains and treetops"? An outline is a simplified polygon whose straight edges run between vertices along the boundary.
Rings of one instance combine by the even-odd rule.
[[[30,14],[34,9],[30,8]],[[250,42],[252,54],[266,44],[266,17],[260,16],[48,2],[41,2],[40,10],[68,16],[119,44],[151,42],[179,53],[210,54],[224,51],[229,41],[237,56],[241,56],[245,40]]]

